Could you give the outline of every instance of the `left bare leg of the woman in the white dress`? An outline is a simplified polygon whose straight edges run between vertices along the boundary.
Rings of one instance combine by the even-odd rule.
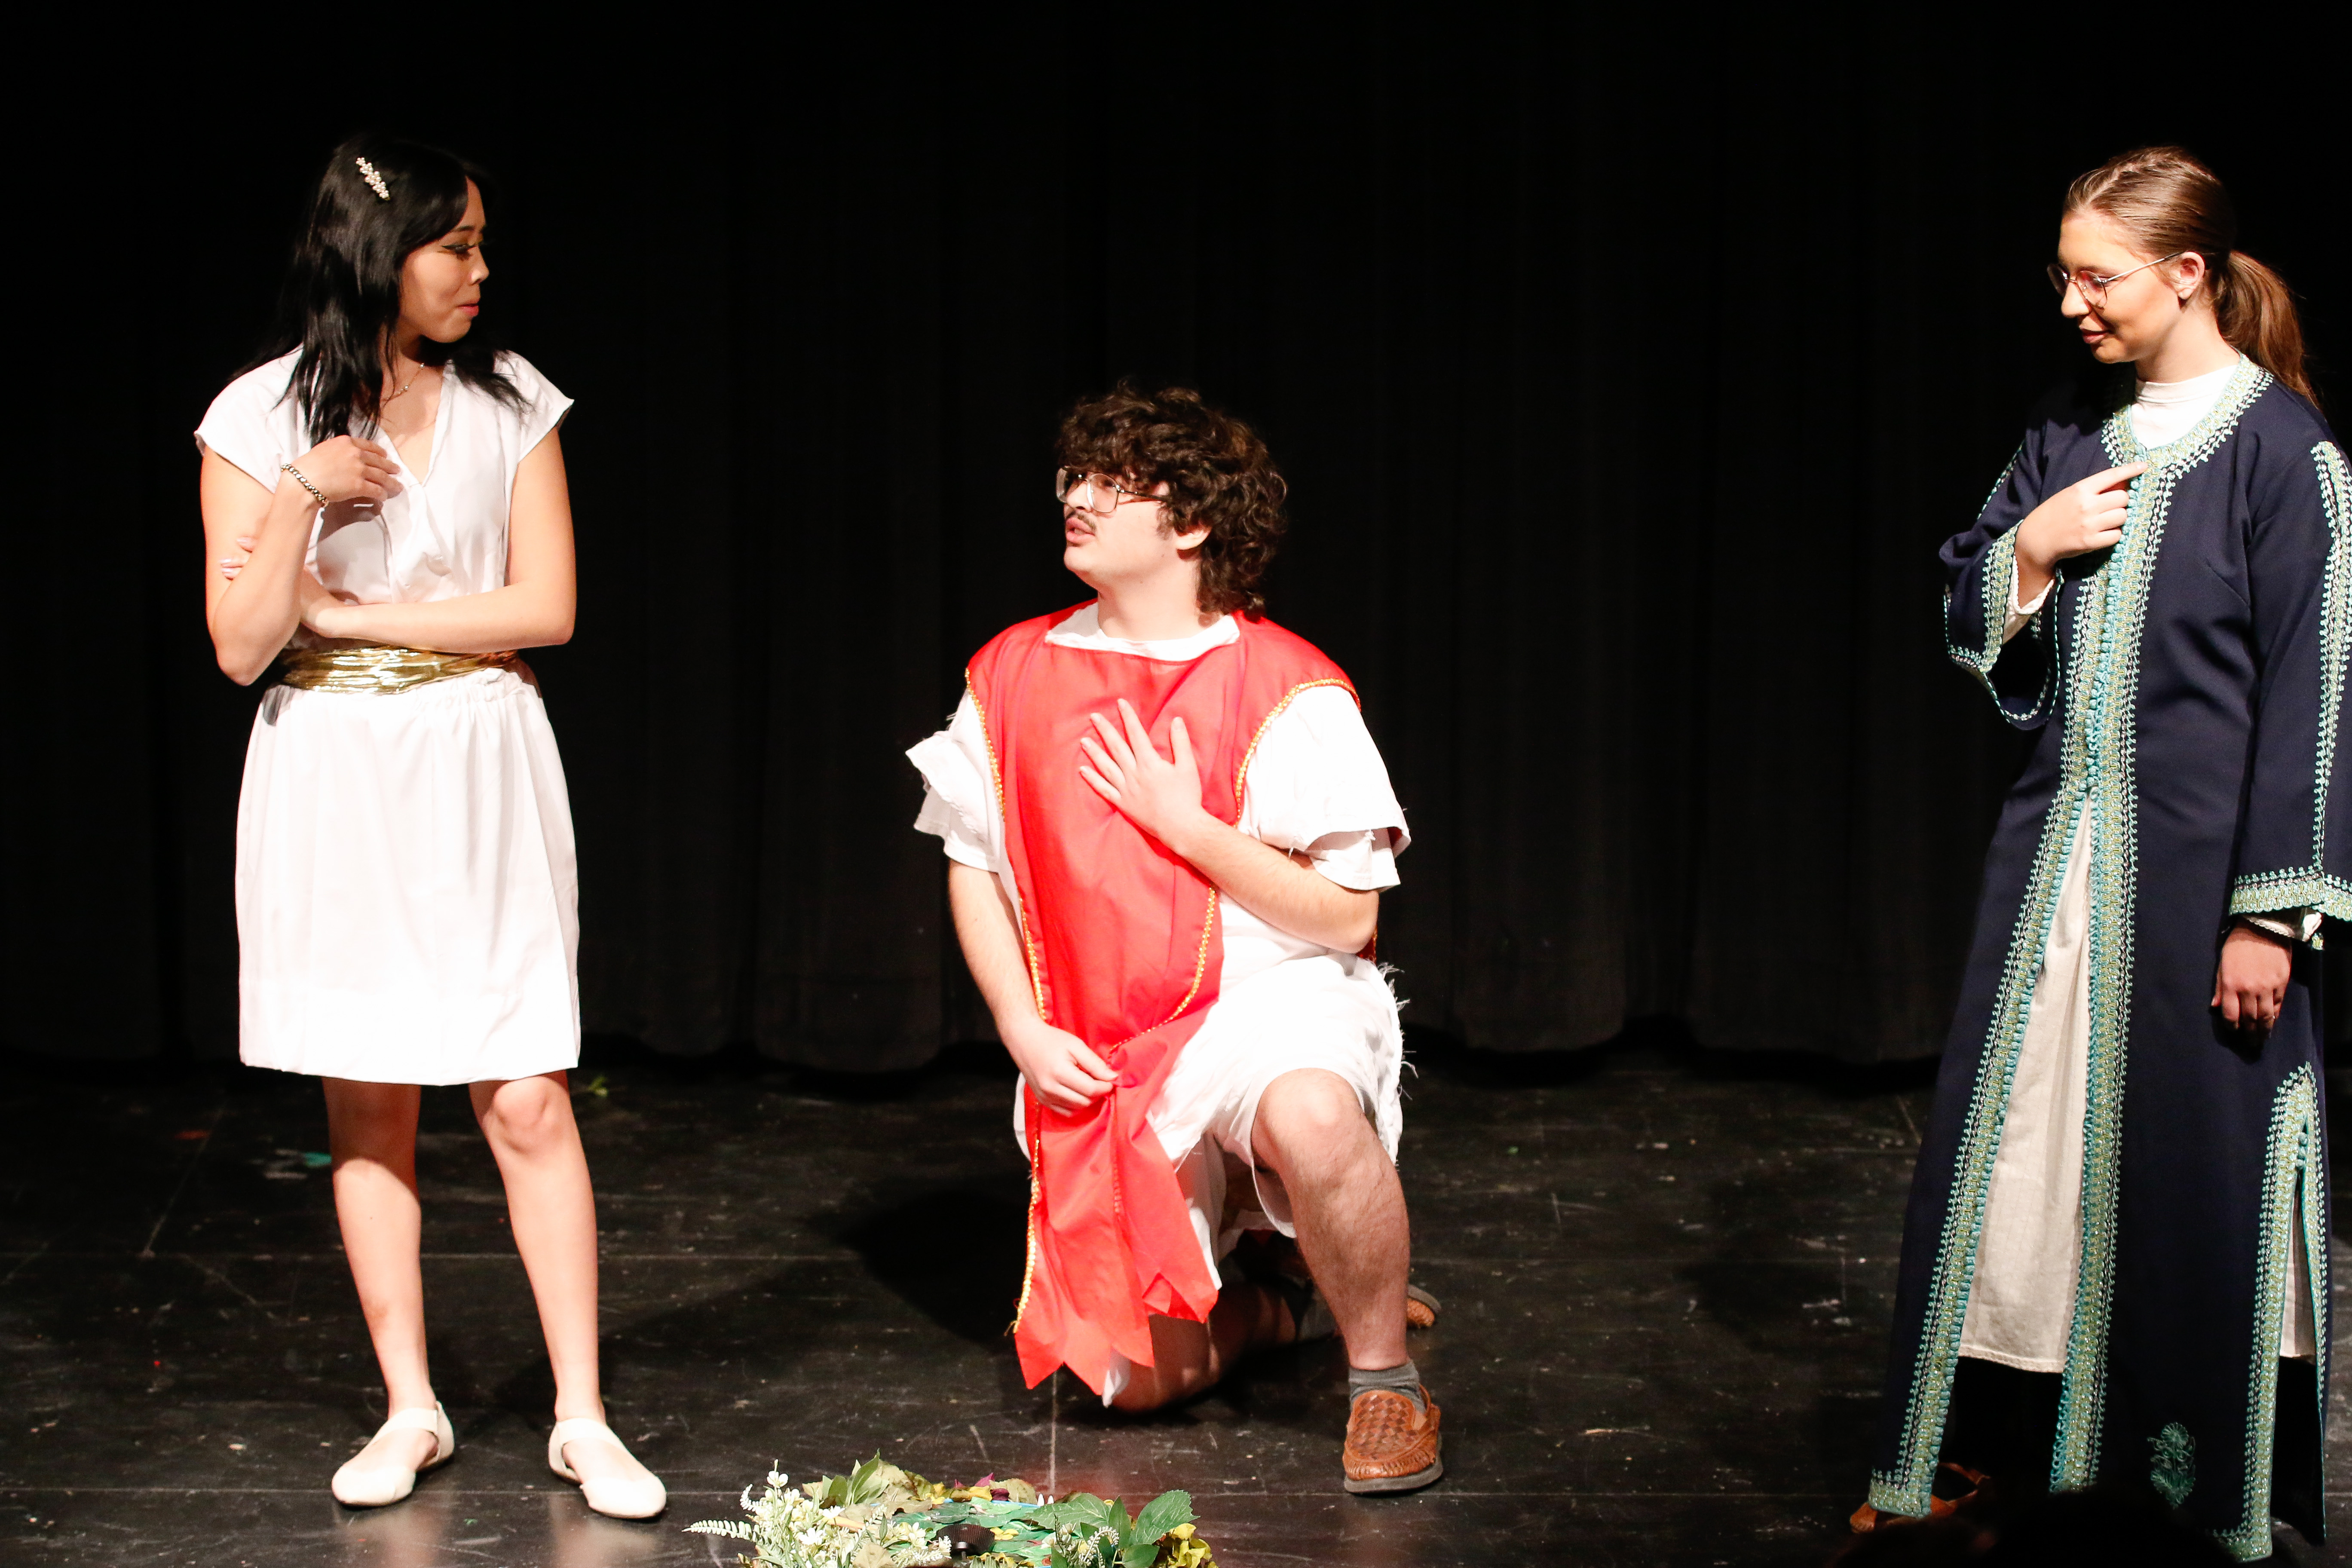
[[[327,1150],[334,1157],[334,1218],[360,1288],[367,1338],[383,1371],[386,1413],[433,1408],[426,1366],[426,1281],[416,1262],[416,1086],[327,1084]],[[402,1432],[409,1467],[433,1458],[430,1432]]]

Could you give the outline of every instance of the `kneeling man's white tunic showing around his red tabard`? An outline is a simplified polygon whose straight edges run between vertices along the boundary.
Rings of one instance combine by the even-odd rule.
[[[1089,604],[1047,632],[1047,642],[1157,661],[1200,658],[1242,632],[1230,616],[1192,637],[1129,642],[1105,637]],[[1021,907],[1004,858],[1004,816],[990,783],[988,738],[967,693],[948,729],[908,757],[927,783],[915,827],[938,835],[950,860],[995,872]],[[1073,757],[1073,766],[1077,759]],[[1249,764],[1237,827],[1275,849],[1305,851],[1331,882],[1385,891],[1397,886],[1406,846],[1397,806],[1355,698],[1338,686],[1301,691],[1265,729]],[[1298,1067],[1324,1067],[1355,1086],[1390,1159],[1404,1126],[1397,1074],[1404,1032],[1381,969],[1268,926],[1221,896],[1225,964],[1218,997],[1200,1032],[1169,1072],[1150,1126],[1178,1168],[1209,1272],[1242,1229],[1272,1225],[1291,1234],[1289,1199],[1272,1171],[1258,1171],[1249,1133],[1265,1086]],[[1014,1095],[1014,1131],[1021,1098]],[[1025,1147],[1025,1145],[1023,1145]],[[1225,1159],[1254,1173],[1256,1204],[1225,1206]]]

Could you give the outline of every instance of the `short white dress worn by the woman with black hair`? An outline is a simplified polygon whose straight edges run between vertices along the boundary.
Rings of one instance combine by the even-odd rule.
[[[292,369],[238,376],[195,433],[273,491],[313,444]],[[522,409],[445,376],[428,470],[393,451],[402,494],[313,522],[306,562],[327,590],[421,604],[506,585],[515,470],[572,400],[520,355],[499,369]],[[374,1084],[572,1067],[576,910],[562,759],[527,679],[263,696],[238,799],[242,1060]]]

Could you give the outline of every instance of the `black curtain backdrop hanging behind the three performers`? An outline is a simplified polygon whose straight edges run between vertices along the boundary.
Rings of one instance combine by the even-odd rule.
[[[988,1032],[901,752],[990,632],[1084,597],[1049,437],[1134,374],[1291,477],[1272,614],[1357,679],[1411,816],[1409,1020],[1931,1053],[2020,759],[1943,661],[1933,550],[2079,353],[2065,181],[2185,141],[2321,353],[2352,308],[2321,101],[2185,35],[2150,87],[2060,21],[891,12],[562,66],[473,38],[348,94],[153,49],[16,139],[49,284],[0,1039],[235,1051],[256,691],[205,639],[188,430],[327,148],[381,125],[501,176],[489,313],[579,400],[579,637],[534,663],[590,1032],[849,1070]]]

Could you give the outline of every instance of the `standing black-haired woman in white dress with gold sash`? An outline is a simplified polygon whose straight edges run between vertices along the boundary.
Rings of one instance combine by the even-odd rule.
[[[517,649],[572,637],[572,402],[480,331],[482,190],[358,136],[320,179],[280,353],[198,428],[205,621],[261,701],[238,804],[240,1053],[325,1081],[334,1206],[388,1420],[334,1476],[407,1497],[456,1450],[426,1366],[421,1084],[466,1084],[555,1368],[548,1465],[642,1519],[604,1425],[579,1060],[579,884],[555,733]]]

